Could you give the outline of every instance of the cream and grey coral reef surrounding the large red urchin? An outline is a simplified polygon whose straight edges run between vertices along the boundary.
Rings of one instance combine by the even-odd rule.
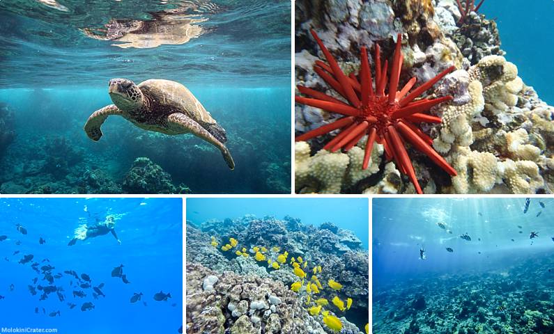
[[[390,60],[398,33],[403,36],[399,87],[410,77],[423,83],[451,65],[458,69],[424,96],[452,96],[430,111],[442,123],[421,125],[421,136],[432,141],[457,175],[448,175],[407,145],[424,193],[551,193],[554,108],[506,60],[493,20],[470,12],[461,21],[455,0],[302,0],[295,1],[295,13],[296,84],[339,101],[344,97],[314,71],[314,63],[324,57],[309,29],[318,33],[347,75],[360,71],[361,47],[372,50],[378,43],[381,58]],[[296,134],[340,117],[297,104]],[[335,136],[337,131],[295,144],[297,193],[415,193],[394,159],[385,157],[383,145],[373,146],[370,164],[363,169],[367,136],[348,152],[323,150]]]

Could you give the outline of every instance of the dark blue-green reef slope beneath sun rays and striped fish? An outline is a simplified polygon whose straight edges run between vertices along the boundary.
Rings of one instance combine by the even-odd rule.
[[[551,253],[509,262],[504,271],[383,282],[374,292],[373,333],[553,333]]]

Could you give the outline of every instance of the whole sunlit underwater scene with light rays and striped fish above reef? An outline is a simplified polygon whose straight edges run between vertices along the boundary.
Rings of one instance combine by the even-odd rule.
[[[526,213],[525,198],[376,198],[372,209],[374,333],[552,333],[553,198],[530,198]]]

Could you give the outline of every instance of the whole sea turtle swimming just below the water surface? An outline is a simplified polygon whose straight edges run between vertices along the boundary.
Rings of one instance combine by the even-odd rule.
[[[108,86],[114,104],[95,111],[84,125],[93,141],[102,137],[100,127],[107,117],[118,115],[148,131],[170,135],[192,133],[218,148],[229,168],[235,168],[231,152],[225,146],[225,129],[182,84],[150,79],[136,85],[129,79],[111,79]]]

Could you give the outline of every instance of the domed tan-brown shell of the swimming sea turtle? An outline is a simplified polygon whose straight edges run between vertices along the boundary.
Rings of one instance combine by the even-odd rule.
[[[153,108],[169,113],[181,112],[200,124],[216,121],[190,90],[171,80],[150,79],[139,84],[141,92],[153,102]]]

